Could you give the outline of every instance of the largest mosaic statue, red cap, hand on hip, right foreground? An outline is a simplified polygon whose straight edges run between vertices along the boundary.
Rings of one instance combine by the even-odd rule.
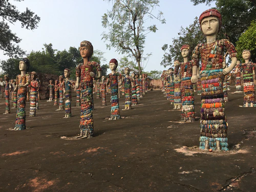
[[[200,148],[228,151],[228,127],[222,84],[224,76],[236,66],[237,51],[227,39],[217,40],[217,34],[222,25],[222,16],[218,10],[204,11],[199,17],[199,23],[203,34],[206,36],[206,43],[198,44],[193,51],[191,81],[197,82],[197,69],[201,56]],[[231,58],[231,64],[228,68],[223,68],[224,48]]]

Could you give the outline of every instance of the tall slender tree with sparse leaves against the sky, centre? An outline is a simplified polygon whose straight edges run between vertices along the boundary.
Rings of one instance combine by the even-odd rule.
[[[110,2],[111,0],[104,0]],[[145,26],[146,19],[156,18],[162,24],[165,19],[163,13],[155,16],[153,10],[159,6],[158,0],[113,0],[111,11],[102,16],[102,26],[109,32],[102,33],[102,39],[110,41],[108,49],[115,48],[117,52],[134,57],[141,73],[141,57],[146,34],[156,32],[156,25]]]

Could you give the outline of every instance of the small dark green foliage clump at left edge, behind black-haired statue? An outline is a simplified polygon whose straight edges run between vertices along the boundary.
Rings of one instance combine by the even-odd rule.
[[[18,58],[9,58],[1,61],[1,68],[4,74],[9,74],[10,79],[16,79],[16,76],[20,73],[19,61]]]

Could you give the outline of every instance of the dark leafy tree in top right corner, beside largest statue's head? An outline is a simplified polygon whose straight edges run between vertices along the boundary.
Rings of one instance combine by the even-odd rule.
[[[215,2],[213,0],[191,0],[194,5]],[[231,42],[236,46],[240,35],[256,19],[256,0],[217,0],[215,9],[222,15],[222,30]]]

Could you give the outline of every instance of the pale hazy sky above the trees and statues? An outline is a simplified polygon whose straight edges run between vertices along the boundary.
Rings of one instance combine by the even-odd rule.
[[[82,40],[92,42],[94,50],[104,52],[105,63],[112,58],[120,60],[124,55],[118,54],[115,48],[106,49],[106,43],[101,40],[101,34],[108,29],[101,25],[101,16],[112,8],[112,2],[103,0],[25,0],[16,2],[11,0],[20,12],[28,7],[40,17],[38,28],[26,30],[21,28],[20,23],[10,25],[12,32],[22,39],[20,48],[28,54],[39,51],[43,44],[52,44],[53,49],[69,50],[70,47],[79,47]],[[211,5],[212,7],[214,5]],[[194,18],[210,9],[205,4],[193,6],[190,0],[160,0],[159,7],[154,10],[163,12],[166,24],[161,24],[156,19],[147,19],[146,26],[156,24],[156,33],[149,33],[146,36],[144,54],[152,53],[148,61],[142,63],[144,71],[164,70],[160,66],[164,51],[161,47],[164,44],[172,44],[172,38],[178,36],[182,27],[188,27],[194,22]],[[9,57],[0,51],[0,60]],[[104,62],[101,64],[105,64]]]

